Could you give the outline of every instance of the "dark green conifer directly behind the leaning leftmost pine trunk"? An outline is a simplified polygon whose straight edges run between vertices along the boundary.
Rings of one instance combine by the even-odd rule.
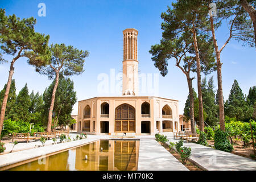
[[[2,107],[3,97],[6,92],[6,84],[4,88],[0,92],[0,107]],[[10,92],[9,97],[6,104],[6,111],[5,111],[5,119],[10,118],[10,111],[14,108],[16,102],[16,86],[15,86],[15,80],[11,80],[11,86],[10,86]]]

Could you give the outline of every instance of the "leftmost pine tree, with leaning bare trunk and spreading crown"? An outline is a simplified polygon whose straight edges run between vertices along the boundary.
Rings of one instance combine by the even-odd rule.
[[[6,84],[6,92],[3,97],[0,114],[0,135],[5,120],[5,111],[9,97],[11,80],[14,74],[14,63],[20,57],[28,58],[28,63],[32,65],[45,65],[49,59],[48,40],[49,36],[44,36],[35,32],[36,19],[17,18],[14,14],[5,15],[5,10],[0,9],[0,63],[8,62],[3,58],[3,54],[11,55],[9,77]]]

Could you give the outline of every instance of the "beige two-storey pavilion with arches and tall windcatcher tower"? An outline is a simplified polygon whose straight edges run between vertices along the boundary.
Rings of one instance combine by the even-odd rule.
[[[87,134],[180,131],[179,101],[138,96],[138,30],[123,31],[122,96],[79,101],[76,130]]]

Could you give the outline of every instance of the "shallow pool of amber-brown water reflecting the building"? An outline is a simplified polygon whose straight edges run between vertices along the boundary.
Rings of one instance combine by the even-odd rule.
[[[138,154],[139,140],[99,140],[10,170],[134,171],[138,168]]]

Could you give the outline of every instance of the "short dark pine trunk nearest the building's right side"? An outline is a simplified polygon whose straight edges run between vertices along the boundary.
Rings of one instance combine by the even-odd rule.
[[[189,90],[189,115],[190,115],[190,121],[191,121],[191,132],[193,134],[196,133],[195,128],[195,116],[194,116],[194,95],[193,95],[193,87],[192,87],[192,79],[187,75],[187,81],[188,81],[188,90]]]

